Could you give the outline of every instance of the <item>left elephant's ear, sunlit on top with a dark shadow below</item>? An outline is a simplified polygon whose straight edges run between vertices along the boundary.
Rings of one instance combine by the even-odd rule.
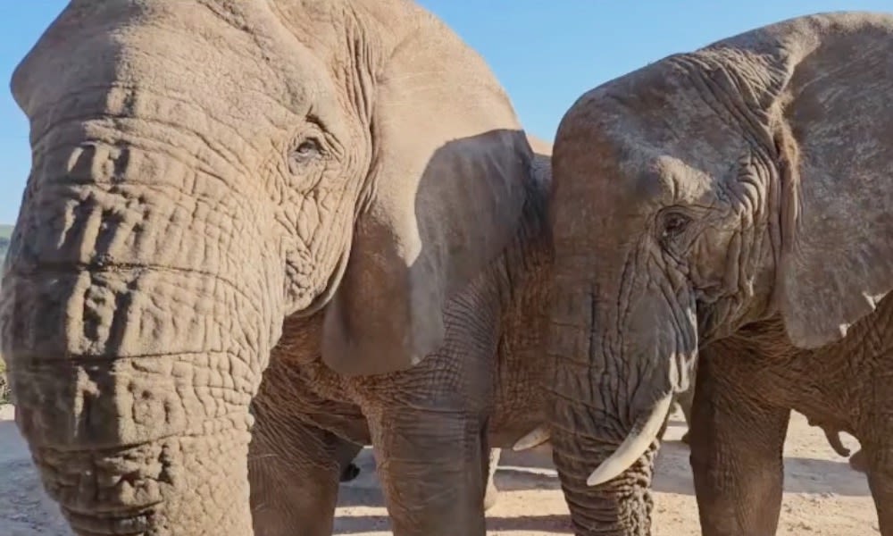
[[[532,154],[504,90],[449,29],[420,26],[377,80],[371,199],[323,323],[323,360],[346,375],[437,350],[447,301],[512,239],[525,198]]]

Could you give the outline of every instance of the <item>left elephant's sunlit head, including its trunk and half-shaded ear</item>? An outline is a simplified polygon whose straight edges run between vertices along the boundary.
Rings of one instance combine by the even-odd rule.
[[[251,533],[283,319],[325,306],[339,373],[411,367],[524,204],[504,90],[405,0],[73,0],[12,88],[33,167],[2,350],[79,533]]]

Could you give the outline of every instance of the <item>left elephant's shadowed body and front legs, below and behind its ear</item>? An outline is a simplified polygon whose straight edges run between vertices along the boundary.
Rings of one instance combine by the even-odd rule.
[[[541,142],[531,142],[542,149]],[[547,160],[538,160],[534,172],[547,179]],[[538,199],[545,198],[542,188]],[[544,226],[544,205],[528,208],[539,215],[523,221]],[[463,352],[469,341],[497,338],[493,354],[476,350],[470,359],[446,348],[402,373],[350,377],[321,360],[324,310],[288,318],[252,402],[257,421],[248,476],[255,534],[287,535],[295,527],[302,534],[330,534],[338,482],[360,446],[369,444],[396,533],[453,533],[463,523],[469,533],[482,534],[483,511],[497,498],[492,483],[499,449],[489,456],[486,449],[513,446],[545,417],[538,389],[546,380],[538,335],[544,330],[531,313],[546,299],[547,246],[518,242],[480,280],[482,293],[512,295],[494,305],[495,324],[472,325],[456,335],[448,329]],[[482,331],[485,325],[496,332]],[[463,423],[464,415],[455,423],[452,412],[473,412],[482,423]],[[474,441],[455,429],[470,424],[483,426]]]

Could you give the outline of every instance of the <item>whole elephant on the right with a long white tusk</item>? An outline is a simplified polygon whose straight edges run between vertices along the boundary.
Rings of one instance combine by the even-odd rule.
[[[792,410],[860,441],[893,535],[891,54],[893,16],[817,13],[564,113],[548,419],[578,534],[650,533],[655,439],[697,362],[705,536],[776,532]]]

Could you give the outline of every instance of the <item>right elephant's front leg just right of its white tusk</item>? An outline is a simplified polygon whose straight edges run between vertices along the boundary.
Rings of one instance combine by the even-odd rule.
[[[753,392],[753,361],[701,351],[692,406],[691,467],[704,536],[772,536],[781,507],[789,408]],[[748,370],[748,367],[750,370]]]

